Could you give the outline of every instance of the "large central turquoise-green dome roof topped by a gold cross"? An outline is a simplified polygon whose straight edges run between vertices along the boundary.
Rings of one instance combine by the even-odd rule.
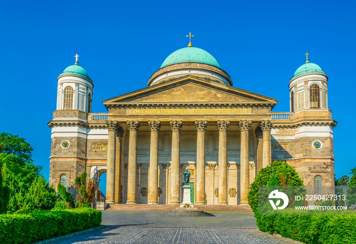
[[[197,47],[185,47],[170,54],[161,65],[161,69],[175,64],[199,63],[220,68],[217,60],[207,51]]]

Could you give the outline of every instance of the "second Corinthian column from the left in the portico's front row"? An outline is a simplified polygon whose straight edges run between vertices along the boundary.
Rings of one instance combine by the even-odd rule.
[[[138,120],[128,120],[129,137],[129,166],[127,182],[127,202],[126,204],[136,203],[136,167],[137,167],[137,130],[140,128]]]

